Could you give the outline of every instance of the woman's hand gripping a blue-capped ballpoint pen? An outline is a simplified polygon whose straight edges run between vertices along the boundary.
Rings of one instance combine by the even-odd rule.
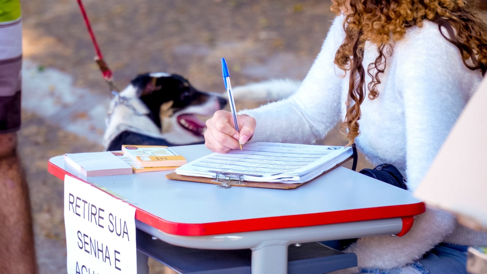
[[[254,134],[256,121],[247,115],[237,115],[233,94],[231,93],[230,75],[225,59],[222,59],[222,71],[228,101],[232,112],[217,111],[206,121],[205,145],[213,152],[226,153],[238,149]]]

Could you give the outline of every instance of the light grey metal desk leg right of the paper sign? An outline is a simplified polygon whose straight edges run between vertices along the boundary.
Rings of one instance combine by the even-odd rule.
[[[286,274],[287,241],[263,242],[252,248],[252,274]]]

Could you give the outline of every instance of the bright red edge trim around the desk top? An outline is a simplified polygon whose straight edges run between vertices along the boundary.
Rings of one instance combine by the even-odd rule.
[[[68,175],[89,184],[89,182],[63,170],[62,168],[53,164],[51,161],[48,162],[48,171],[52,175],[62,180],[64,180],[65,175]],[[109,195],[115,197],[111,194]],[[182,236],[217,235],[269,229],[386,219],[395,217],[402,218],[403,227],[401,232],[397,234],[398,236],[402,236],[408,233],[411,229],[414,220],[413,216],[419,215],[426,210],[425,204],[423,202],[419,202],[407,205],[371,207],[302,215],[275,216],[202,224],[186,224],[167,221],[165,219],[152,215],[149,212],[144,211],[134,205],[132,206],[135,207],[135,219],[146,223],[162,232]]]

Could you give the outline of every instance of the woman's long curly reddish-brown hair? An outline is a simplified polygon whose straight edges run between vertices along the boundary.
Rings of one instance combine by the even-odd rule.
[[[386,56],[391,56],[393,42],[404,37],[406,29],[423,26],[424,20],[438,24],[441,35],[455,45],[463,63],[471,70],[487,69],[487,25],[476,4],[469,0],[332,0],[331,10],[340,15],[348,10],[343,22],[345,39],[335,55],[338,68],[350,70],[347,112],[342,129],[347,130],[349,145],[360,135],[360,104],[365,99],[365,41],[377,45],[377,58],[367,67],[372,78],[368,98],[377,98],[380,75],[384,73]],[[349,4],[350,6],[348,6]],[[444,33],[447,31],[448,36]],[[384,52],[386,51],[386,52]],[[353,103],[353,105],[351,105]]]

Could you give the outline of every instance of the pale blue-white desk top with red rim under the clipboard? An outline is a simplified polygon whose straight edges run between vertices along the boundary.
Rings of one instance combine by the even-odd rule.
[[[203,145],[172,149],[188,161],[210,153]],[[130,202],[138,210],[137,219],[178,235],[318,225],[424,212],[424,204],[410,192],[344,167],[290,190],[220,189],[212,184],[169,180],[165,175],[172,171],[87,178],[65,164],[62,156],[51,158],[49,169],[55,176],[72,174]]]

